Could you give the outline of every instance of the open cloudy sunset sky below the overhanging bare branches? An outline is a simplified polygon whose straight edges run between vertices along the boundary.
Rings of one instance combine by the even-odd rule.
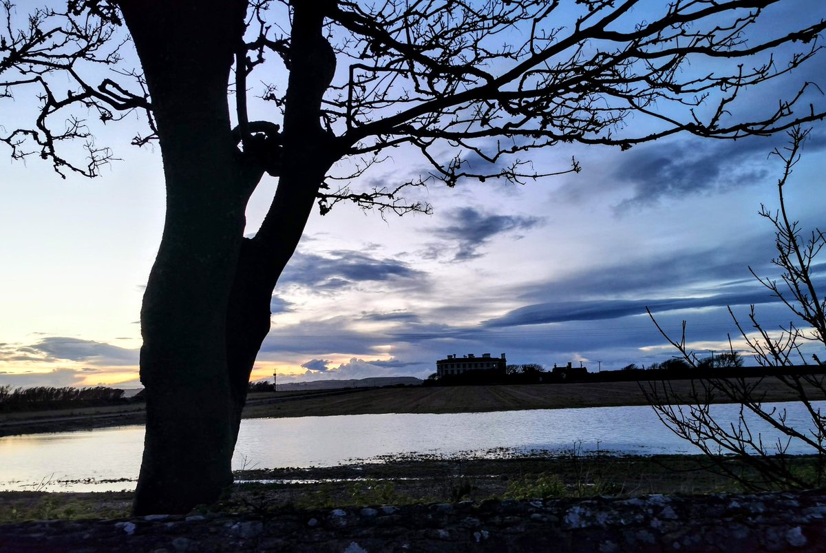
[[[824,74],[821,53],[771,90]],[[30,101],[0,104],[0,124]],[[776,98],[743,109],[767,101]],[[140,386],[140,302],[163,226],[164,179],[157,148],[128,144],[135,124],[99,131],[120,160],[97,179],[61,179],[40,160],[11,160],[0,145],[0,385]],[[769,152],[786,140],[561,145],[535,153],[536,164],[560,168],[575,156],[581,173],[525,185],[433,184],[416,192],[431,215],[382,218],[349,205],[316,212],[273,294],[253,378],[425,378],[435,360],[471,353],[591,371],[650,365],[676,350],[646,306],[675,337],[686,321],[701,356],[728,350],[729,333],[744,351],[727,306],[744,319],[756,304],[772,329],[790,318],[748,269],[779,277],[772,228],[758,212],[777,207],[782,164]],[[420,167],[399,155],[371,178]],[[804,229],[826,228],[824,167],[820,125],[786,192]],[[266,178],[254,194],[249,232],[276,186]]]

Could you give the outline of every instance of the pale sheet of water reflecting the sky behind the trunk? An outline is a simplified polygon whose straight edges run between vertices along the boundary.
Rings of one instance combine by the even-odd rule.
[[[800,403],[777,405],[788,410],[790,426],[810,426]],[[826,411],[826,402],[815,405]],[[737,409],[717,405],[713,413],[718,421],[736,420]],[[765,423],[753,430],[762,432],[764,441],[776,440]],[[134,489],[143,437],[142,426],[2,437],[0,489]],[[346,415],[244,420],[233,468],[335,466],[414,453],[485,455],[501,453],[502,448],[564,451],[574,444],[583,451],[637,455],[699,452],[664,427],[648,407]],[[811,451],[793,442],[789,452]]]

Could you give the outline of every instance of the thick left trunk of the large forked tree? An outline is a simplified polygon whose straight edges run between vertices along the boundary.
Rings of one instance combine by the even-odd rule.
[[[226,312],[254,187],[226,103],[243,4],[121,5],[152,97],[167,190],[164,236],[140,316],[146,436],[139,515],[187,512],[232,482]]]

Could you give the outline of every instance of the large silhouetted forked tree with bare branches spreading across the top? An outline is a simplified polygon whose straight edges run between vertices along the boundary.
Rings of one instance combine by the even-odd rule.
[[[40,100],[31,126],[0,136],[13,157],[94,176],[112,153],[84,118],[125,112],[145,114],[134,143],[156,142],[163,156],[164,235],[141,311],[136,513],[187,511],[231,483],[273,288],[316,203],[322,214],[342,201],[427,212],[401,198],[404,188],[537,179],[553,171],[526,155],[559,142],[732,139],[824,117],[796,110],[808,84],[769,112],[732,115],[743,90],[814,55],[823,21],[746,41],[776,0],[662,2],[644,14],[638,3],[69,0],[17,17],[3,2],[0,90]],[[121,60],[127,35],[140,70]],[[778,46],[792,41],[803,46],[780,60]],[[706,60],[714,71],[696,70]],[[116,71],[101,77],[99,65]],[[249,96],[253,74],[270,79],[261,101]],[[82,161],[65,146],[73,138],[85,144]],[[396,148],[430,169],[357,188]],[[577,170],[573,161],[558,172]],[[244,208],[264,174],[278,190],[244,238]]]

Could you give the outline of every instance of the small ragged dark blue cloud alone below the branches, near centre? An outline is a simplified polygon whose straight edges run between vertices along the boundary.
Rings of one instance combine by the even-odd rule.
[[[496,235],[527,231],[543,221],[539,217],[491,215],[474,207],[460,207],[444,218],[444,226],[436,231],[436,235],[449,242],[447,247],[456,251],[453,260],[457,261],[479,257],[479,248]]]

